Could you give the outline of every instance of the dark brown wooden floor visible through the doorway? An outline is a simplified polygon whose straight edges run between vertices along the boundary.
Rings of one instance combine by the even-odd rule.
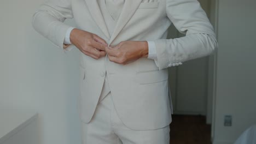
[[[170,144],[211,144],[205,116],[172,115],[170,130]]]

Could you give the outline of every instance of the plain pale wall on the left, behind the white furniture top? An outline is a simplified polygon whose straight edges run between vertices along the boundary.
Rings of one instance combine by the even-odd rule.
[[[0,109],[38,112],[39,144],[80,143],[78,50],[63,53],[33,30],[42,2],[0,1]]]

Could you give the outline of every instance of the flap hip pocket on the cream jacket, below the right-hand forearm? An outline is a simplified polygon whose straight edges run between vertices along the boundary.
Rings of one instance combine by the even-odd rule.
[[[139,71],[135,76],[135,81],[142,85],[166,80],[168,80],[168,69]]]

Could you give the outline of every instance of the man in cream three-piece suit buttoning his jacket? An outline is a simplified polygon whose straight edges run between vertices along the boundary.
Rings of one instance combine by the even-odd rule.
[[[63,23],[67,18],[74,18],[77,28]],[[168,143],[167,68],[217,47],[196,0],[49,0],[32,23],[63,51],[81,51],[84,144]],[[186,36],[166,39],[172,23]]]

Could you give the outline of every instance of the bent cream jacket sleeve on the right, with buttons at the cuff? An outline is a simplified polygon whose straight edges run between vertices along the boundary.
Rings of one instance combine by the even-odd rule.
[[[217,47],[213,27],[197,0],[166,0],[166,13],[185,37],[155,40],[160,70],[210,55]]]

